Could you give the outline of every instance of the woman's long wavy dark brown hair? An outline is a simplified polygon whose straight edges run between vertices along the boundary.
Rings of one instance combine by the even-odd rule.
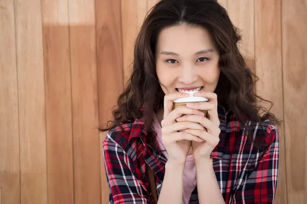
[[[153,115],[163,107],[165,95],[156,73],[157,39],[163,29],[182,23],[205,28],[212,36],[220,53],[221,73],[215,90],[218,103],[232,111],[248,139],[255,142],[248,131],[248,120],[259,123],[270,120],[279,125],[280,121],[269,112],[270,109],[260,106],[261,100],[270,103],[271,108],[273,104],[256,94],[254,84],[258,78],[239,52],[241,36],[225,8],[213,0],[161,0],[149,10],[137,36],[131,77],[118,98],[113,111],[114,121],[109,121],[111,126],[99,130],[111,130],[121,127],[122,123],[143,118],[147,141],[151,145],[156,141],[152,130]],[[264,114],[260,115],[260,111]]]

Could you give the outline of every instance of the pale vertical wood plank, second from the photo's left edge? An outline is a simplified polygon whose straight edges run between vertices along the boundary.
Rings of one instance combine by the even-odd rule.
[[[15,0],[21,203],[47,203],[41,5]]]

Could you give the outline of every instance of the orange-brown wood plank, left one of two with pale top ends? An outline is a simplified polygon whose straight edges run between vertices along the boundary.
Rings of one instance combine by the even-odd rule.
[[[42,0],[48,203],[74,203],[68,1]]]

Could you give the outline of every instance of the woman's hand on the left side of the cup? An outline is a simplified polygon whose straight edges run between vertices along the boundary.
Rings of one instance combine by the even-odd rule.
[[[162,142],[168,153],[168,162],[173,164],[185,164],[188,151],[191,147],[191,141],[203,141],[203,139],[190,133],[180,132],[186,129],[204,131],[205,128],[201,124],[191,121],[176,121],[176,118],[182,115],[201,116],[204,115],[203,112],[187,107],[178,107],[172,110],[173,100],[187,96],[189,96],[188,93],[177,92],[167,94],[164,97],[164,118],[161,121]]]

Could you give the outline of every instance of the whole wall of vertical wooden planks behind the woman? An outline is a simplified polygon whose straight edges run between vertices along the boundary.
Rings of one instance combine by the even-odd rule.
[[[0,2],[0,202],[107,203],[98,125],[157,0]],[[279,129],[276,203],[307,203],[307,0],[221,0]]]

